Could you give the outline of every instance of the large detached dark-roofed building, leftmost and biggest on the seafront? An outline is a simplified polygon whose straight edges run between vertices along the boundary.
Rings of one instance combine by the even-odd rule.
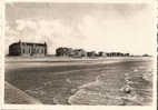
[[[47,54],[47,43],[16,42],[9,46],[9,56],[41,57]]]

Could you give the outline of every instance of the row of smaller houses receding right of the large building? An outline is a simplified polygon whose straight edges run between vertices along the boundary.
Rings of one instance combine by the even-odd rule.
[[[129,57],[129,53],[121,52],[103,52],[103,51],[86,51],[83,49],[72,49],[60,47],[56,49],[57,57]]]

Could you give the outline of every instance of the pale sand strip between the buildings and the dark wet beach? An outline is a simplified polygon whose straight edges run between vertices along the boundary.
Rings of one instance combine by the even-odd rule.
[[[152,58],[134,58],[134,57],[125,57],[125,58],[100,58],[100,59],[71,59],[71,58],[17,58],[17,59],[12,59],[12,58],[7,58],[6,59],[6,66],[8,67],[8,69],[12,69],[12,67],[10,67],[11,64],[16,64],[18,67],[27,67],[27,68],[31,68],[31,67],[47,67],[47,66],[51,66],[51,67],[62,67],[62,66],[95,66],[95,64],[112,64],[112,63],[121,63],[121,62],[134,62],[134,61],[154,61]]]

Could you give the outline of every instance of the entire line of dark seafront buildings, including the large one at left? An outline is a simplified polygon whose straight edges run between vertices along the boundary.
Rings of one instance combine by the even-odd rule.
[[[9,56],[34,56],[45,57],[47,56],[47,43],[31,43],[31,42],[14,42],[9,46]],[[60,47],[56,49],[57,57],[129,57],[129,53],[121,52],[96,52],[86,51],[83,49],[72,49]]]

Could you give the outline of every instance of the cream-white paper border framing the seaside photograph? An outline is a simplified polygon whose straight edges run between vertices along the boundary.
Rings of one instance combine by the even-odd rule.
[[[156,13],[157,13],[157,3],[155,0],[96,0],[96,1],[92,1],[92,0],[24,0],[24,1],[21,1],[21,0],[6,0],[6,3],[9,3],[9,2],[92,2],[92,3],[149,3],[151,6],[154,6],[154,23],[156,26],[157,23],[157,18],[156,18]],[[4,6],[2,7],[2,37],[1,37],[1,42],[2,42],[2,52],[4,52]],[[156,110],[157,109],[157,28],[155,27],[155,31],[154,31],[154,40],[155,40],[155,51],[156,51],[156,56],[154,57],[155,61],[154,61],[154,68],[155,68],[155,71],[154,71],[154,102],[152,102],[152,106],[43,106],[43,104],[4,104],[3,103],[3,96],[4,96],[4,53],[1,58],[1,62],[2,62],[2,70],[1,70],[1,76],[0,76],[0,80],[1,80],[1,83],[0,83],[0,87],[2,88],[1,90],[1,94],[0,96],[1,100],[0,100],[0,103],[1,103],[1,108],[2,109],[31,109],[31,110],[36,110],[36,109],[59,109],[59,110],[117,110],[117,109],[120,109],[120,110]]]

